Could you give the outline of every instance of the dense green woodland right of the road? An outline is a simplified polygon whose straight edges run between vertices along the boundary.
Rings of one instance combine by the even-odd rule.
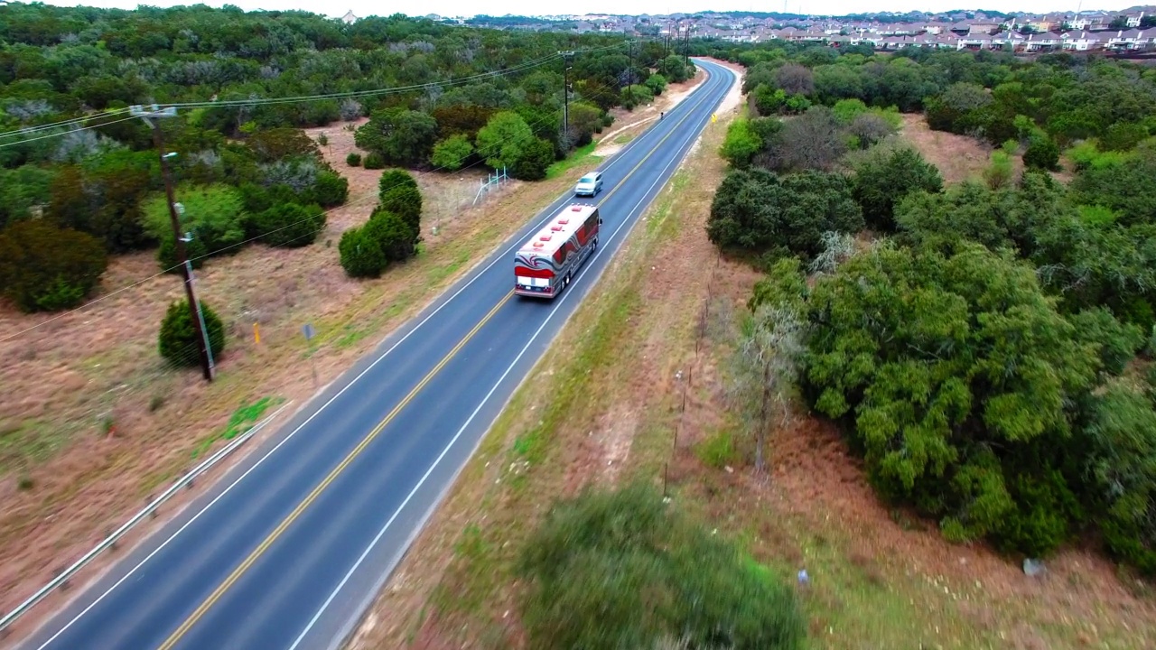
[[[727,134],[734,169],[707,232],[765,265],[750,306],[798,332],[808,407],[843,426],[884,498],[949,539],[1035,556],[1095,531],[1156,573],[1153,73],[1067,56],[731,54],[756,117]],[[835,68],[864,93],[820,91]],[[897,71],[921,88],[907,103],[867,82]],[[999,145],[992,168],[944,186],[882,128],[892,105]],[[875,138],[851,128],[862,116]],[[1061,147],[1067,184],[1048,172]]]

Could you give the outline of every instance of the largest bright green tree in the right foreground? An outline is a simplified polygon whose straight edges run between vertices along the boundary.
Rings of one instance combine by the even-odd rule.
[[[1057,453],[1099,359],[1032,267],[977,244],[883,245],[821,276],[807,302],[803,391],[847,423],[885,496],[940,517],[949,539],[1029,555],[1067,539],[1081,511]]]

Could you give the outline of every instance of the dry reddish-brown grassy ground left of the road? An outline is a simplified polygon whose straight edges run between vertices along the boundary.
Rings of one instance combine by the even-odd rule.
[[[670,93],[695,84],[672,86]],[[617,124],[645,117],[627,113]],[[0,401],[0,611],[22,601],[221,446],[235,409],[266,397],[292,400],[290,413],[303,406],[316,392],[310,356],[319,386],[335,379],[599,160],[546,182],[512,180],[476,207],[470,202],[484,171],[415,175],[424,198],[421,254],[379,280],[354,281],[338,261],[336,244],[342,231],[368,219],[381,171],[346,164],[355,147],[344,125],[306,132],[314,139],[326,134],[321,152],[349,179],[349,200],[328,213],[325,231],[310,246],[250,245],[198,269],[199,297],[229,334],[213,384],[197,370],[168,368],[156,353],[158,324],[183,289],[177,276],[156,275],[150,252],[112,260],[102,289],[76,311],[28,316],[0,305],[6,360],[0,394],[9,396]],[[302,335],[305,323],[317,331],[311,344]],[[212,478],[162,515],[171,516]],[[80,581],[114,559],[97,560]],[[27,634],[74,591],[50,597],[9,640]]]

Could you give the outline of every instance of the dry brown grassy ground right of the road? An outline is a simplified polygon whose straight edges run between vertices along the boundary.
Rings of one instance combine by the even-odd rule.
[[[880,503],[837,431],[807,413],[771,440],[769,477],[753,473],[741,441],[726,467],[704,465],[699,445],[731,426],[718,368],[759,276],[720,258],[703,230],[722,176],[712,155],[722,121],[688,163],[695,183],[677,178],[647,213],[351,648],[524,647],[513,548],[554,497],[635,474],[668,483],[675,503],[741,535],[784,579],[806,568],[812,583],[800,596],[814,648],[1156,647],[1147,585],[1088,549],[1064,551],[1044,577],[1029,578],[981,544],[946,542],[934,522]],[[674,232],[669,219],[681,220]],[[556,419],[550,398],[576,378],[570,390],[583,398]],[[518,449],[535,436],[548,451],[524,465]]]

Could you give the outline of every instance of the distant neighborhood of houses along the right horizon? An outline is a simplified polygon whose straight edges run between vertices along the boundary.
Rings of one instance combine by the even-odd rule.
[[[1052,14],[862,14],[805,16],[755,12],[617,16],[427,16],[440,22],[497,29],[605,32],[650,37],[686,37],[763,43],[823,43],[835,47],[868,45],[875,50],[936,47],[1015,52],[1121,51],[1156,52],[1156,6],[1122,12],[1087,10]],[[357,20],[351,12],[346,22]]]

